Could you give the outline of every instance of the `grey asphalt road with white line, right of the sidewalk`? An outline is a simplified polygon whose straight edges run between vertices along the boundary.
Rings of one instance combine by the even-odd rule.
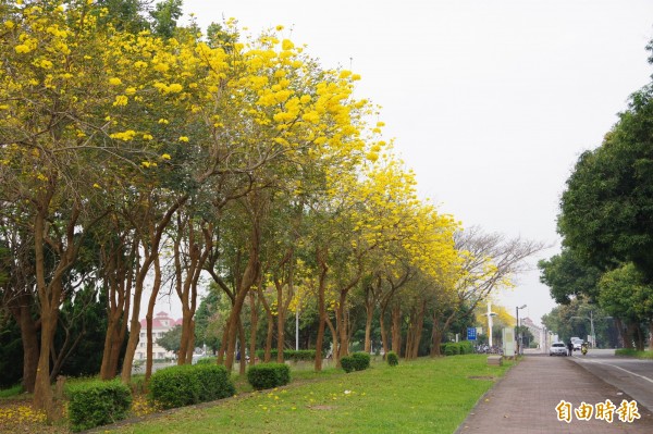
[[[575,351],[571,360],[653,411],[653,360],[615,357],[613,349]]]

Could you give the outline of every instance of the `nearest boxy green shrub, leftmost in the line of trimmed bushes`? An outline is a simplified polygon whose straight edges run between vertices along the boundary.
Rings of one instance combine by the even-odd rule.
[[[76,384],[67,388],[69,419],[74,432],[125,419],[132,406],[127,385],[113,380]]]

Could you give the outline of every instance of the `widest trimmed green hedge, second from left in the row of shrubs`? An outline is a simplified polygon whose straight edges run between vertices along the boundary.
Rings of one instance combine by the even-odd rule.
[[[226,368],[218,364],[184,364],[152,374],[149,398],[164,409],[234,396],[236,388]]]

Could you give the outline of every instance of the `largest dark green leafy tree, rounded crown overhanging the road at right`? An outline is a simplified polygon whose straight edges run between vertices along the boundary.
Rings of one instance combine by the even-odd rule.
[[[631,261],[653,281],[653,87],[633,94],[601,147],[582,153],[560,201],[558,231],[581,261]]]

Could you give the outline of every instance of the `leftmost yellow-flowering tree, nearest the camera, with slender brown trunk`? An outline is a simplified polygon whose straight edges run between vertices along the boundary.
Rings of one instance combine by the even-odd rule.
[[[88,228],[109,209],[96,186],[144,153],[124,140],[130,131],[115,131],[107,120],[128,102],[107,61],[130,41],[98,28],[90,9],[84,2],[3,2],[1,16],[1,200],[21,209],[34,236],[41,322],[34,399],[48,412],[63,281]],[[46,256],[53,259],[46,263]]]

